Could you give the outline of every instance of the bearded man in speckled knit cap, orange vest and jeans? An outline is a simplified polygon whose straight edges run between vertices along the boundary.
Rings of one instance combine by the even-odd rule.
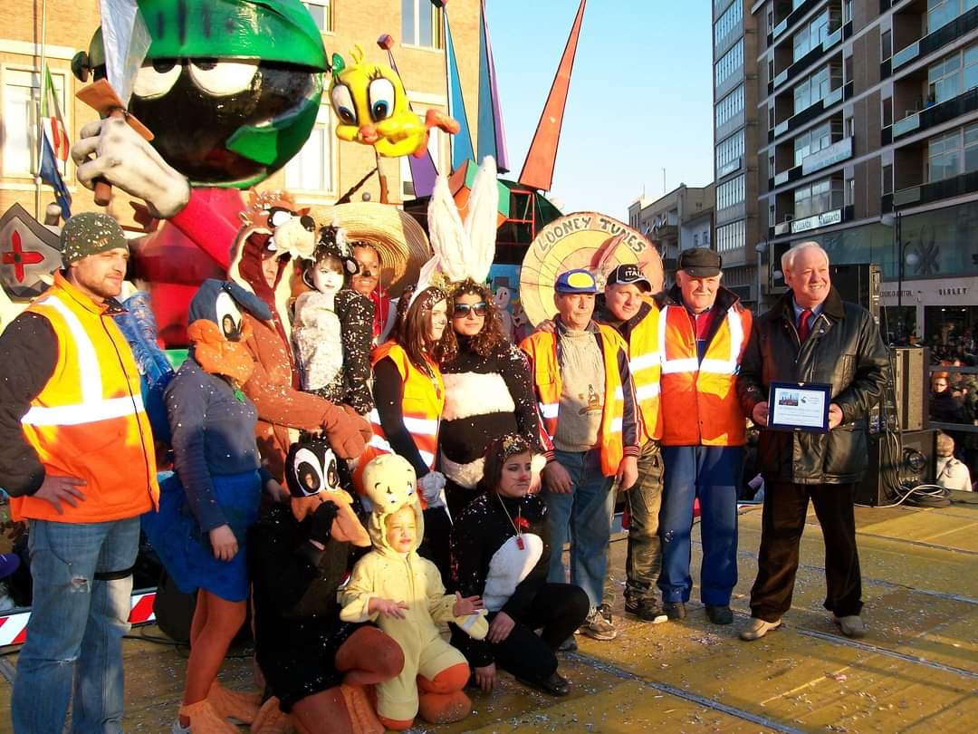
[[[0,335],[0,485],[28,523],[33,603],[17,734],[121,731],[139,516],[157,506],[139,370],[115,324],[129,248],[109,216],[61,232],[64,269]],[[74,696],[72,699],[72,681]]]

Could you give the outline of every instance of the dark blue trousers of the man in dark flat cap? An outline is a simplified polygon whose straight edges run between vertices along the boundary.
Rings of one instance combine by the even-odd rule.
[[[663,602],[688,602],[692,502],[699,497],[703,563],[699,597],[703,604],[730,604],[736,584],[736,492],[742,446],[663,446],[662,573]]]

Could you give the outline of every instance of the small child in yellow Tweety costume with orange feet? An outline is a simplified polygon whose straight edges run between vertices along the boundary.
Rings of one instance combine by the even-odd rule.
[[[463,692],[468,664],[441,638],[436,622],[453,621],[471,637],[485,637],[479,597],[446,594],[438,569],[418,555],[424,529],[415,470],[396,454],[384,454],[363,472],[374,506],[368,530],[374,549],[361,558],[342,592],[340,618],[376,621],[404,651],[404,669],[378,683],[378,716],[401,731],[419,713],[430,723],[458,721],[471,702]]]

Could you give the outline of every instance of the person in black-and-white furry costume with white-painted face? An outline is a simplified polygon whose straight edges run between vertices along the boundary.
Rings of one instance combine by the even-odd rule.
[[[292,344],[302,390],[367,415],[374,408],[374,303],[349,288],[358,270],[343,230],[323,227],[316,251],[302,269],[302,280],[312,290],[295,299]]]

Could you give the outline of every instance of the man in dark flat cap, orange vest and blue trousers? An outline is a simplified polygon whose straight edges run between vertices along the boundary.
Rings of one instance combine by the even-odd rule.
[[[680,253],[676,285],[660,294],[662,458],[665,464],[658,585],[669,619],[686,617],[692,506],[699,498],[700,599],[714,624],[730,624],[736,583],[736,496],[746,418],[736,394],[751,314],[720,285],[708,248]]]

